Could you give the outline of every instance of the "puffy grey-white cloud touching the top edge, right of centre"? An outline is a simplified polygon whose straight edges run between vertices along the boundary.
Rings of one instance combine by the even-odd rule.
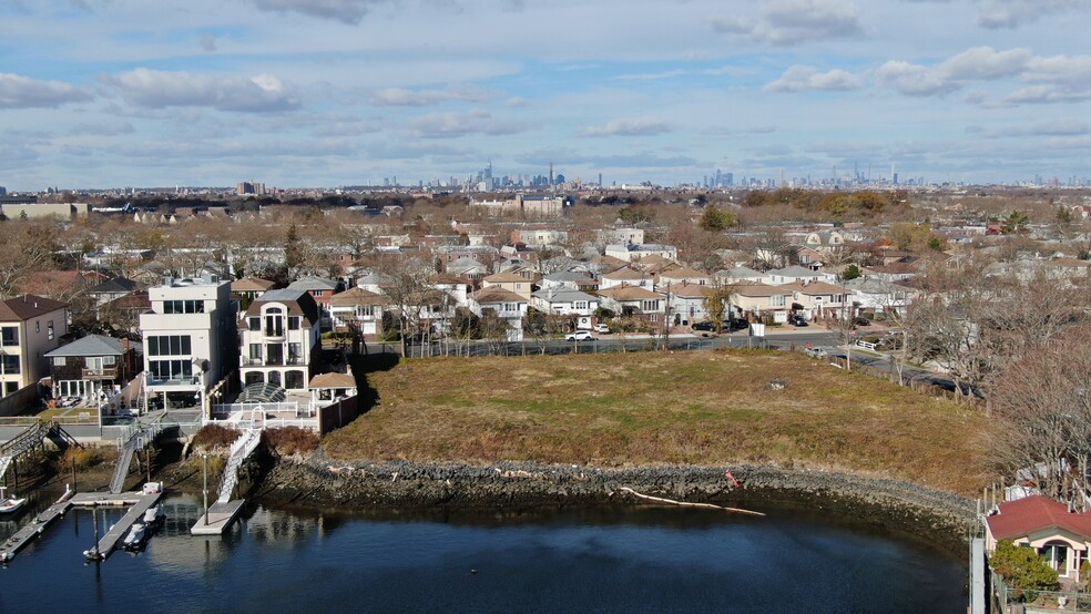
[[[721,34],[785,47],[864,33],[859,8],[843,0],[766,0],[756,18],[713,18],[711,23]]]

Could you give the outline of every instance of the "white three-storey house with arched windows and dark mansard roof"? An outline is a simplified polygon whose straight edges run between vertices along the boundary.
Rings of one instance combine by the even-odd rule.
[[[239,327],[243,386],[307,387],[322,351],[319,309],[310,293],[269,290],[254,299]]]

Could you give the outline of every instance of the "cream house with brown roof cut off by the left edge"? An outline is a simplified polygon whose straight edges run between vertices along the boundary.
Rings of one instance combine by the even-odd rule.
[[[45,355],[68,335],[68,304],[22,295],[0,301],[0,382],[3,396],[49,373]]]

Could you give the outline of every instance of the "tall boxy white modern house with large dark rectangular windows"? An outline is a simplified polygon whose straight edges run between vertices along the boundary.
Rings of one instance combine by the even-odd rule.
[[[203,409],[205,392],[238,365],[237,306],[231,283],[218,277],[166,278],[147,289],[151,311],[141,314],[144,396],[164,407]]]

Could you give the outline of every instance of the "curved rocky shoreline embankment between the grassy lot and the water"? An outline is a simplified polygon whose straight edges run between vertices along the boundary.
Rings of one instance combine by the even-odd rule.
[[[266,458],[249,495],[346,510],[532,510],[646,504],[622,492],[730,506],[820,512],[961,552],[973,502],[910,482],[769,465],[589,468],[503,462],[344,463]],[[738,485],[725,471],[738,481]]]

